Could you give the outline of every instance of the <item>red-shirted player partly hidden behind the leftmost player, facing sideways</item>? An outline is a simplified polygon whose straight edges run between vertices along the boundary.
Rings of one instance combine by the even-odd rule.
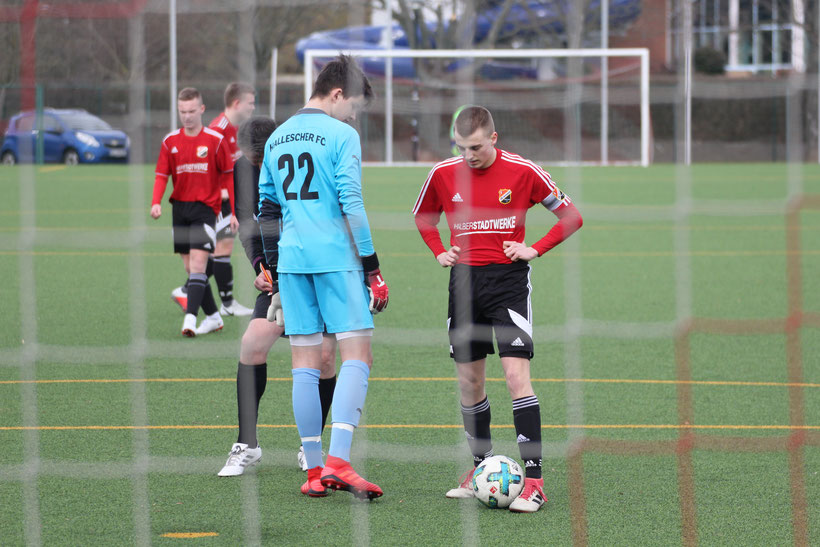
[[[242,82],[232,82],[225,88],[224,94],[225,110],[214,118],[208,126],[220,133],[225,138],[225,143],[231,152],[234,163],[242,156],[242,151],[237,143],[237,128],[253,115],[256,108],[256,92],[253,86]],[[222,187],[222,209],[216,219],[216,249],[208,263],[208,272],[213,272],[216,287],[219,290],[219,298],[222,300],[220,312],[222,315],[247,316],[253,313],[251,308],[246,308],[233,297],[233,267],[231,266],[231,254],[233,253],[233,242],[238,229],[238,222],[231,212],[231,204],[228,198],[228,186],[233,185],[233,178],[223,179]],[[177,287],[171,292],[173,300],[183,309],[187,297],[187,284]]]

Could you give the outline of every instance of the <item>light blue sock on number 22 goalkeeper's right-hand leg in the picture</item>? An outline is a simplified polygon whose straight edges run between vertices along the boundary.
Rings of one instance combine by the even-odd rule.
[[[359,425],[370,367],[362,361],[345,361],[336,378],[333,391],[333,431],[328,454],[350,461],[353,430]]]

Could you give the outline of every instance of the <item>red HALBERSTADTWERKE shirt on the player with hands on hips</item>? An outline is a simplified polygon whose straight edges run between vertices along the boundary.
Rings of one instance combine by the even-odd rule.
[[[460,156],[436,164],[422,186],[413,214],[434,255],[446,251],[436,227],[443,212],[450,228],[450,245],[461,248],[459,263],[510,264],[503,242],[524,241],[527,210],[536,203],[557,214],[559,208],[572,202],[541,167],[497,149],[495,161],[486,169],[473,169]],[[539,243],[532,247],[540,255],[547,246]]]

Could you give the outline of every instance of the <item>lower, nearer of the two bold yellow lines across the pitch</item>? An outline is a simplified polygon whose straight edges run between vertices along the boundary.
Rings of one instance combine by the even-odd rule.
[[[295,429],[291,424],[259,424],[266,429]],[[463,424],[365,424],[367,429],[462,429]],[[513,424],[491,425],[493,429],[513,429]],[[756,431],[815,431],[820,425],[743,425],[743,424],[544,424],[542,429],[731,429]],[[236,429],[235,425],[43,425],[0,426],[0,431],[131,431],[181,429]]]

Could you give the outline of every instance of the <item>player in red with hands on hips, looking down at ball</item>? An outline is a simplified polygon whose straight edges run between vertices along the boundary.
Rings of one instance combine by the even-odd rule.
[[[490,403],[484,389],[487,355],[495,353],[512,397],[513,421],[526,478],[511,511],[535,512],[544,504],[541,477],[541,410],[530,381],[533,356],[529,261],[543,255],[583,224],[572,201],[531,161],[495,147],[490,112],[464,108],[455,120],[461,156],[435,165],[413,208],[416,227],[442,267],[451,267],[448,304],[450,356],[461,391],[467,442],[478,466],[493,453]],[[558,217],[549,232],[524,243],[527,211],[542,204]],[[450,248],[437,224],[445,214]],[[472,497],[468,473],[449,498]]]

